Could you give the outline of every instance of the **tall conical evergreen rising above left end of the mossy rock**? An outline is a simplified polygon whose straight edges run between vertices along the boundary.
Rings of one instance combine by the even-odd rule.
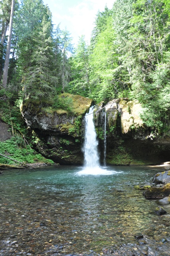
[[[51,59],[54,58],[51,20],[44,16],[41,26],[35,31],[34,49],[30,66],[24,72],[24,91],[31,98],[45,98],[54,92],[57,77],[53,75]]]

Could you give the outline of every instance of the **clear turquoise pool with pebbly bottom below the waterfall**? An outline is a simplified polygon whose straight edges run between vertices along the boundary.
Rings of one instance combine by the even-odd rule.
[[[151,182],[158,170],[86,171],[75,166],[4,170],[0,255],[170,255],[170,216],[155,215],[157,202],[133,188]]]

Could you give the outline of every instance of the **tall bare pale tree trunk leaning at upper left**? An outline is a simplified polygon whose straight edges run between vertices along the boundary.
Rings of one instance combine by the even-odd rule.
[[[15,7],[15,0],[12,0],[9,35],[8,35],[8,43],[7,43],[7,49],[6,49],[5,65],[4,65],[4,73],[3,73],[3,81],[2,81],[2,84],[5,88],[6,88],[6,84],[7,84],[8,66],[9,66],[9,59],[10,59],[10,49],[11,49],[11,39],[12,39],[12,22],[13,22],[13,16],[14,16],[14,7]]]

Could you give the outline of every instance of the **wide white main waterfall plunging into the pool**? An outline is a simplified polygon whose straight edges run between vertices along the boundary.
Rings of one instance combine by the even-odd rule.
[[[98,167],[99,154],[98,154],[98,141],[96,138],[96,131],[93,123],[93,107],[90,107],[89,113],[85,115],[86,129],[85,140],[83,146],[84,164],[85,167]]]

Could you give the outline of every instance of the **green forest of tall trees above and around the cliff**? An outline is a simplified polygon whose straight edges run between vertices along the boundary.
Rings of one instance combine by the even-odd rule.
[[[96,14],[90,45],[81,35],[76,47],[69,31],[60,24],[54,29],[43,0],[1,0],[0,36],[0,119],[13,135],[7,151],[22,146],[27,134],[21,102],[51,102],[69,110],[70,102],[59,97],[63,92],[96,103],[137,100],[143,122],[168,135],[169,0],[116,0],[111,10],[106,6]],[[0,150],[5,152],[3,142]]]

